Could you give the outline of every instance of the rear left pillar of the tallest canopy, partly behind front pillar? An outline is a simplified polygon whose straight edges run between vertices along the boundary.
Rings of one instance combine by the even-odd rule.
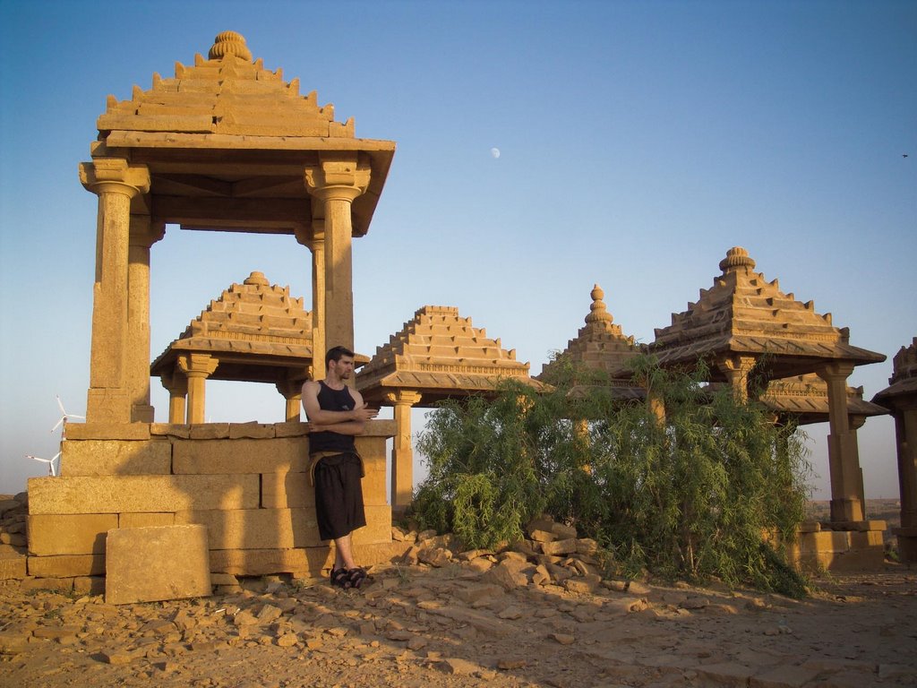
[[[130,420],[152,423],[149,404],[149,248],[166,233],[164,222],[130,216],[127,250],[127,385]]]

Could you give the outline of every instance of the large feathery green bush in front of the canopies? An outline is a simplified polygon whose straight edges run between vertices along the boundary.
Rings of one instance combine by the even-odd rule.
[[[710,391],[703,370],[679,375],[640,357],[635,379],[664,401],[662,424],[646,403],[616,402],[601,373],[556,362],[550,392],[506,383],[493,401],[428,416],[415,518],[492,547],[547,513],[597,539],[624,570],[802,594],[763,536],[792,538],[804,517],[809,466],[796,427]]]

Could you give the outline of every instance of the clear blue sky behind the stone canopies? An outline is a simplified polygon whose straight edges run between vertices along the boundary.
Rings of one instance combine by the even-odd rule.
[[[354,245],[361,352],[455,305],[536,374],[593,283],[652,341],[735,245],[889,357],[852,376],[867,399],[917,335],[917,3],[0,0],[0,27],[0,492],[44,473],[25,454],[57,451],[55,394],[85,410],[96,197],[77,165],[105,97],[227,29],[358,137],[398,144]],[[253,270],[309,304],[309,266],[291,237],[169,227],[152,356]],[[273,388],[208,385],[214,421],[282,415]],[[818,497],[826,432],[810,427]],[[860,456],[867,496],[896,496],[888,417]]]

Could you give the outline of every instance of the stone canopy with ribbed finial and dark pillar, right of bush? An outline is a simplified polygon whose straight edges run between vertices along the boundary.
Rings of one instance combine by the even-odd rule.
[[[728,250],[720,270],[697,303],[672,314],[669,327],[657,328],[647,349],[667,368],[691,369],[706,361],[710,382],[729,383],[742,398],[759,363],[767,383],[817,373],[825,383],[831,424],[831,521],[838,528],[863,521],[864,487],[846,379],[855,366],[885,356],[852,346],[847,328],[834,327],[830,314],[819,315],[812,301],[803,304],[784,294],[777,280],[767,282],[745,249]]]

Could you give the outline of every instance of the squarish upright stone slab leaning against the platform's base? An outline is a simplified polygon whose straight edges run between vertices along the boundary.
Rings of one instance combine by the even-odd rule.
[[[118,528],[105,547],[105,602],[208,596],[210,561],[203,526]]]

